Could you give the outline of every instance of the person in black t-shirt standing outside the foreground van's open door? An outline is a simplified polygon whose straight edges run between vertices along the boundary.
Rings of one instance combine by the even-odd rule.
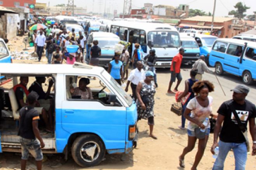
[[[38,129],[38,120],[40,118],[39,113],[34,109],[36,100],[35,94],[28,94],[28,105],[21,108],[19,113],[18,135],[21,143],[21,170],[26,169],[29,153],[37,161],[37,170],[42,170],[42,160],[44,158],[42,148],[44,148],[45,144]]]

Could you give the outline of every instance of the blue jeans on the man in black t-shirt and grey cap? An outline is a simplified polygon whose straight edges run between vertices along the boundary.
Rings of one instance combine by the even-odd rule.
[[[233,149],[235,156],[235,170],[245,170],[247,160],[246,143],[225,143],[219,140],[219,154],[212,170],[223,170],[228,152]]]

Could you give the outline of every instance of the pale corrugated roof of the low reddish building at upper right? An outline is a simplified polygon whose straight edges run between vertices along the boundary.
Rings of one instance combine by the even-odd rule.
[[[229,17],[214,17],[214,22],[225,22],[225,21],[230,21],[236,18],[229,18]],[[195,17],[190,17],[186,19],[182,19],[182,21],[203,21],[203,22],[212,22],[212,17],[211,16],[195,16]]]

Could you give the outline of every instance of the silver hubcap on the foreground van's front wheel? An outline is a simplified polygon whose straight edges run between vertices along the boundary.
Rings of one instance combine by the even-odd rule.
[[[101,149],[94,141],[86,142],[80,149],[80,156],[84,161],[92,162],[98,159]]]

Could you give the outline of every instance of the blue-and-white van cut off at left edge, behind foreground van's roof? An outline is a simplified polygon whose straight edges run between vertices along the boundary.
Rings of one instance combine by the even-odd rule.
[[[9,49],[2,38],[0,38],[0,63],[12,63]],[[6,81],[5,77],[0,76],[0,84],[4,83],[4,81]]]

